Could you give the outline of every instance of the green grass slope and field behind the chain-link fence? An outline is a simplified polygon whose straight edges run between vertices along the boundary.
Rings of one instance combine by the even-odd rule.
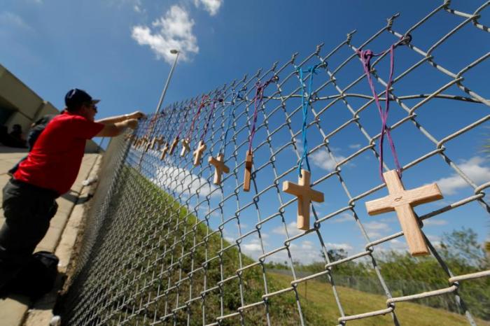
[[[150,325],[154,316],[161,317],[176,306],[186,306],[190,298],[198,299],[162,325],[214,323],[222,314],[236,313],[242,305],[262,302],[266,285],[269,293],[290,288],[290,276],[267,273],[264,278],[260,265],[217,287],[220,281],[237,276],[238,269],[255,260],[241,253],[237,246],[222,251],[230,246],[228,241],[134,169],[123,169],[118,190],[107,217],[111,220],[109,234],[115,230],[116,236],[104,239],[102,248],[106,252],[102,250],[100,255],[118,257],[113,253],[119,253],[122,256],[118,262],[124,264],[111,273],[102,273],[100,279],[90,284],[96,293],[97,288],[110,285],[99,291],[106,297],[101,302],[104,305],[96,305],[99,310],[95,313],[97,318],[103,316],[107,325],[122,322]],[[124,230],[123,234],[118,229]],[[182,256],[191,252],[192,255]],[[209,261],[213,257],[217,258]],[[200,269],[207,261],[207,268]],[[162,271],[165,274],[155,277]],[[192,277],[188,278],[191,271]],[[169,288],[173,290],[162,295]],[[209,291],[202,300],[204,290]],[[348,316],[386,308],[384,296],[342,287],[338,287],[338,292]],[[158,299],[151,300],[157,296]],[[266,325],[267,314],[271,325],[300,325],[298,301],[307,325],[338,325],[340,313],[331,286],[318,281],[301,283],[296,292],[290,290],[270,297],[267,306],[259,304],[246,309],[242,316],[227,318],[221,325],[240,325],[241,318],[245,325]],[[396,313],[401,325],[468,325],[464,316],[420,304],[397,304]],[[477,323],[490,325],[482,320]],[[393,320],[389,315],[377,316],[348,325],[393,325]]]

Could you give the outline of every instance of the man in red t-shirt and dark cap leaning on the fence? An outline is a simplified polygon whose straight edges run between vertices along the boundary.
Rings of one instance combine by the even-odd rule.
[[[78,175],[85,141],[118,136],[144,118],[134,112],[94,121],[99,100],[77,88],[66,93],[64,101],[64,112],[52,118],[3,188],[0,289],[27,264],[48,232],[57,211],[55,199],[70,190]]]

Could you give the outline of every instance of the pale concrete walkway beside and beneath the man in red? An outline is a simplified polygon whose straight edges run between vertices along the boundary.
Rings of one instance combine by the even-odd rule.
[[[10,179],[7,174],[8,169],[25,155],[26,150],[0,146],[0,189]],[[88,197],[90,187],[84,187],[82,182],[89,177],[97,176],[100,157],[99,154],[85,154],[76,182],[71,187],[70,192],[57,199],[58,211],[51,220],[48,233],[36,248],[36,251],[47,250],[59,257],[58,270],[61,274],[66,271],[69,264],[78,227],[83,218],[85,209],[83,203],[90,198]],[[2,199],[1,192],[0,199]],[[0,225],[3,225],[4,220],[3,210],[0,208]],[[51,310],[56,302],[56,297],[57,293],[53,291],[36,303],[29,302],[29,299],[19,296],[0,299],[0,326],[48,326],[52,318]]]

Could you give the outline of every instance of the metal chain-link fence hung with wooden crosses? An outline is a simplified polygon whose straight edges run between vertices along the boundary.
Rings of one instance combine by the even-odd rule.
[[[398,153],[407,188],[440,180],[444,201],[416,208],[423,230],[430,221],[432,227],[451,227],[467,219],[485,232],[490,177],[484,154],[472,151],[484,148],[490,118],[490,29],[483,20],[489,7],[480,3],[466,12],[444,1],[405,31],[395,28],[394,15],[363,43],[355,43],[351,32],[328,52],[318,45],[302,60],[295,54],[251,78],[164,108],[131,137],[112,141],[87,217],[79,268],[62,303],[66,325],[383,325],[387,319],[380,316],[395,325],[422,325],[417,320],[423,315],[431,316],[430,323],[442,315],[422,304],[401,313],[405,302],[430,297],[450,301],[451,307],[433,306],[460,314],[457,323],[487,323],[488,306],[477,307],[490,302],[483,257],[462,269],[449,259],[456,257],[448,254],[451,248],[424,234],[430,256],[411,258],[394,213],[386,215],[392,224],[381,222],[367,216],[365,202],[386,195],[378,143],[391,132],[397,151],[385,153],[384,171],[396,167],[391,159]],[[469,38],[470,46],[463,47]],[[417,43],[422,39],[426,44]],[[374,96],[359,50],[392,44],[392,80],[384,77],[390,50],[365,65],[379,89]],[[376,97],[381,104],[391,99],[383,132]],[[181,155],[183,140],[190,151]],[[200,141],[207,148],[195,162]],[[208,160],[219,161],[220,153],[229,171],[216,182]],[[305,231],[295,227],[297,197],[282,188],[283,181],[296,182],[300,162],[303,169],[311,166],[311,187],[325,196],[325,203],[311,205]],[[441,217],[449,220],[440,222]],[[330,254],[338,249],[346,255]],[[420,271],[430,264],[437,275],[427,274],[419,282],[423,288],[398,291],[396,284],[410,280],[395,283],[386,277],[388,264],[380,267],[393,252]],[[287,275],[274,273],[271,262],[281,262]],[[321,269],[302,274],[298,262],[316,262]],[[369,269],[370,276],[350,274],[346,281],[345,266]],[[316,280],[329,288],[314,301],[299,289],[309,282],[318,290],[320,285],[311,286]],[[366,280],[376,290],[359,285]],[[468,285],[466,297],[465,284],[475,285]],[[377,294],[383,306],[363,297],[366,292]]]

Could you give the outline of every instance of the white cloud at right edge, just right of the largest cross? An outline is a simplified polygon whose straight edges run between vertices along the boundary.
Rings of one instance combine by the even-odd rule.
[[[490,180],[490,168],[488,166],[482,166],[485,162],[483,157],[472,157],[470,160],[463,161],[462,164],[458,164],[459,168],[477,185],[486,183]],[[469,187],[461,176],[457,173],[452,174],[447,178],[440,178],[435,183],[439,186],[442,194],[455,194],[457,190]]]

